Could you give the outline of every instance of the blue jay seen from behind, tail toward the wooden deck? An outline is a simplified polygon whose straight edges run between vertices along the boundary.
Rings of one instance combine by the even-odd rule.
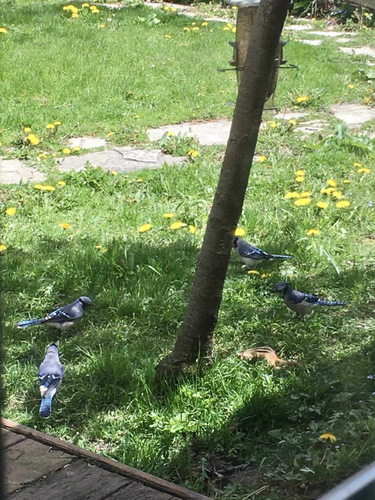
[[[42,418],[48,418],[51,414],[52,397],[58,391],[63,376],[64,369],[58,356],[57,345],[51,343],[38,371],[41,395],[39,415]]]

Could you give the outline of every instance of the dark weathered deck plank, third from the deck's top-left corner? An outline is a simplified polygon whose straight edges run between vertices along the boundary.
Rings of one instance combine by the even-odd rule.
[[[11,500],[101,500],[130,482],[85,460],[76,460],[14,493]]]

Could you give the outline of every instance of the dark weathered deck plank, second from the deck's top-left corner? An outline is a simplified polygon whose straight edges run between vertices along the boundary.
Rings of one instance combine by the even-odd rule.
[[[60,450],[51,450],[50,446],[23,439],[5,450],[6,493],[29,484],[53,470],[75,460]]]

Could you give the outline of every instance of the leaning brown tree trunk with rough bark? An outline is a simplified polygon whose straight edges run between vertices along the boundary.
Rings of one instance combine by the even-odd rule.
[[[260,1],[189,302],[172,352],[156,366],[159,377],[177,374],[186,363],[209,353],[231,240],[242,211],[266,90],[289,2]]]

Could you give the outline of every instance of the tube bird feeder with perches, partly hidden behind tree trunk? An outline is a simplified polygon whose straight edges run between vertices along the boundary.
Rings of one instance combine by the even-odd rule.
[[[256,11],[260,0],[226,0],[227,3],[235,5],[238,7],[237,10],[237,20],[236,20],[236,31],[235,31],[235,41],[229,41],[229,45],[233,47],[233,59],[228,61],[233,68],[218,69],[218,71],[228,71],[234,69],[237,73],[237,83],[241,81],[242,69],[245,63],[247,47],[250,41],[250,35],[252,31],[252,26],[254,24],[254,19]],[[272,114],[277,112],[277,108],[273,104],[274,92],[276,89],[278,70],[281,67],[284,68],[298,68],[294,64],[289,66],[282,66],[287,62],[286,59],[282,58],[282,47],[287,43],[287,40],[279,41],[276,54],[275,54],[275,64],[273,66],[272,74],[269,80],[269,85],[266,93],[266,99],[264,103],[263,110],[269,111]]]

